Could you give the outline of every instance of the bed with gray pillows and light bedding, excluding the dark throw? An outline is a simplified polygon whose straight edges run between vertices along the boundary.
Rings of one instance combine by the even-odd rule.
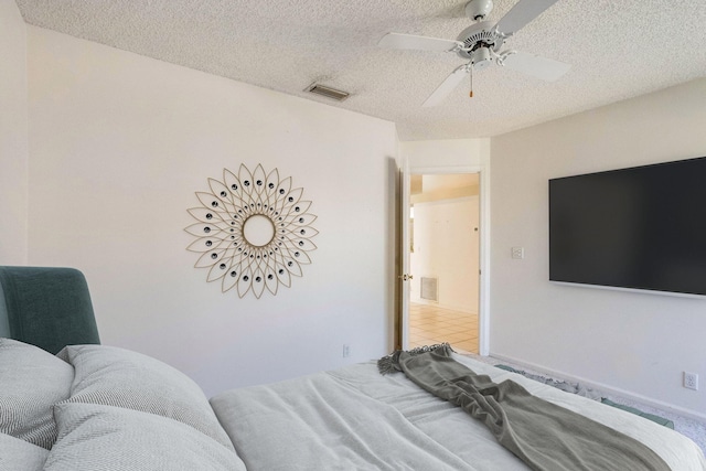
[[[639,440],[674,471],[706,470],[702,450],[674,430],[452,360]],[[208,400],[189,377],[136,352],[72,345],[52,355],[0,339],[0,470],[531,469],[481,421],[403,373],[381,375],[374,361]]]

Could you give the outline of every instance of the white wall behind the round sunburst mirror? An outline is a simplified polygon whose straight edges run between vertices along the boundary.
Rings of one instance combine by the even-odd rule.
[[[85,272],[104,343],[161,358],[207,394],[388,352],[394,124],[28,34],[30,263]],[[194,193],[240,163],[292,176],[318,215],[313,264],[259,300],[206,283],[185,249]]]

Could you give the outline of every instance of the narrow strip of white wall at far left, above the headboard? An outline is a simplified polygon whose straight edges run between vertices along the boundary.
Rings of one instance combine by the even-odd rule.
[[[0,265],[28,259],[26,26],[14,0],[0,0]]]

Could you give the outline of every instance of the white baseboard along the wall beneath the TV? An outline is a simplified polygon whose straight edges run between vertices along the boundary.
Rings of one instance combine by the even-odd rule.
[[[666,410],[666,411],[671,411],[674,414],[677,414],[682,417],[686,417],[689,419],[694,419],[694,420],[698,420],[702,422],[706,422],[706,415],[702,414],[702,413],[697,413],[696,410],[692,410],[692,409],[685,409],[683,407],[678,407],[678,406],[674,406],[670,403],[664,403],[662,400],[657,400],[657,399],[652,399],[650,397],[643,396],[641,394],[635,394],[635,393],[631,393],[629,390],[624,390],[618,387],[613,387],[613,386],[609,386],[607,384],[603,383],[597,383],[590,379],[586,379],[585,377],[580,377],[580,376],[574,376],[557,370],[552,370],[552,368],[547,368],[546,366],[543,365],[537,365],[531,362],[525,362],[522,360],[517,360],[517,358],[513,358],[512,356],[505,356],[505,355],[499,355],[495,354],[493,352],[490,353],[491,357],[500,360],[500,361],[505,361],[505,362],[510,362],[513,363],[517,366],[527,368],[527,370],[532,370],[535,371],[537,373],[544,374],[546,376],[552,376],[555,377],[557,379],[564,379],[570,383],[580,383],[585,386],[588,386],[592,389],[598,389],[608,394],[613,394],[616,396],[620,396],[624,399],[628,400],[633,400],[635,403],[640,403],[643,404],[645,406],[650,406],[650,407],[654,407],[656,409],[662,409],[662,410]]]

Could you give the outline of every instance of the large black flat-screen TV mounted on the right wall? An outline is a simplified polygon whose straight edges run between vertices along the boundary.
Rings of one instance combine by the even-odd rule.
[[[706,158],[549,180],[549,279],[706,295]]]

